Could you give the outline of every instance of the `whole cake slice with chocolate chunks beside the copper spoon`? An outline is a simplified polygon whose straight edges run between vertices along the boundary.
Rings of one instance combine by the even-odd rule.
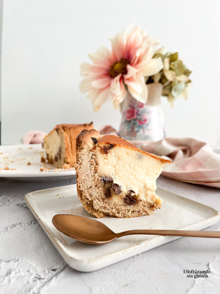
[[[84,130],[76,139],[76,179],[85,209],[102,218],[150,215],[161,207],[156,178],[171,161],[113,135]]]

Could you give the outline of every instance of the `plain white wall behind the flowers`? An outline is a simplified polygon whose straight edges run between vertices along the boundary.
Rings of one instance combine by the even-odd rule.
[[[112,124],[120,112],[98,113],[80,93],[79,66],[88,53],[131,23],[178,51],[193,71],[188,100],[162,104],[168,136],[217,142],[220,113],[218,0],[5,0],[3,5],[2,143],[57,123]],[[220,16],[219,16],[220,17]]]

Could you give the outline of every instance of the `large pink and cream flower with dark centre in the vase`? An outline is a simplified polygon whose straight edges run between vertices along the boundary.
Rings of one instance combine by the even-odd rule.
[[[88,55],[92,64],[81,65],[84,78],[80,90],[88,92],[94,111],[109,97],[118,109],[126,97],[126,89],[138,101],[147,101],[144,76],[158,73],[163,68],[161,58],[153,59],[155,44],[157,42],[141,27],[129,26],[111,39],[111,50],[102,47]]]

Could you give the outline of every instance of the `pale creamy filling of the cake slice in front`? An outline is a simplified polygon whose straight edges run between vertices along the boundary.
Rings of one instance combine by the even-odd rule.
[[[130,193],[135,199],[162,203],[156,196],[156,178],[162,172],[163,164],[150,155],[126,147],[113,147],[104,153],[98,146],[95,147],[100,177],[111,178],[114,184],[120,186],[122,193]],[[123,201],[120,194],[111,196],[111,200],[119,203]]]

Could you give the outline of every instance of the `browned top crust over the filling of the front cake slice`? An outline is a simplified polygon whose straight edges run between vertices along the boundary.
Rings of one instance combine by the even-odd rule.
[[[154,155],[152,153],[148,153],[148,152],[136,147],[135,145],[133,145],[129,141],[122,139],[121,137],[114,136],[114,135],[106,135],[106,136],[103,136],[102,138],[98,139],[98,145],[100,147],[103,147],[105,145],[127,147],[127,148],[130,148],[133,150],[138,150],[139,152],[141,152],[145,155],[150,155],[150,156],[154,157],[155,159],[159,160],[163,164],[172,163],[172,161],[170,161],[170,160],[164,159],[164,158],[157,156],[157,155]]]

